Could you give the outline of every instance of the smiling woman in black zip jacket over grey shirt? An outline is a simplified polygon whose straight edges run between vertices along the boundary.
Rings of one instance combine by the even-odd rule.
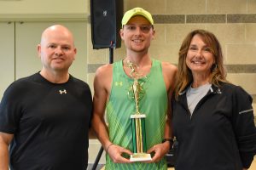
[[[179,50],[173,133],[176,170],[241,170],[256,153],[252,97],[226,80],[218,39],[191,31]]]

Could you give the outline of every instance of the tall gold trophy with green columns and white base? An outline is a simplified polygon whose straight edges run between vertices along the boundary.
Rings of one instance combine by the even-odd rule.
[[[135,71],[134,64],[131,66],[131,74]],[[133,155],[130,157],[130,161],[150,161],[152,160],[151,155],[147,154],[147,143],[146,143],[146,128],[145,118],[146,115],[139,111],[139,100],[143,97],[143,87],[137,81],[137,77],[133,77],[134,82],[131,86],[132,99],[135,100],[136,113],[131,115],[131,130],[132,130],[132,150]],[[129,93],[128,93],[129,95]]]

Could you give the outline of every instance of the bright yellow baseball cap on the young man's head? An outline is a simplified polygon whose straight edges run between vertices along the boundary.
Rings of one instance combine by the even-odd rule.
[[[148,11],[146,11],[145,9],[137,7],[137,8],[132,8],[125,12],[122,19],[122,26],[127,24],[127,22],[131,19],[131,17],[135,15],[142,15],[150,22],[151,25],[154,25],[154,20],[152,18],[152,15],[148,13]]]

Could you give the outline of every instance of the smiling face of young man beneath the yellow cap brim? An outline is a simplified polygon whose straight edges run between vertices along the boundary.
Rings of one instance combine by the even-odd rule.
[[[129,51],[148,52],[154,29],[150,22],[141,15],[136,15],[128,21],[120,31],[120,37]]]

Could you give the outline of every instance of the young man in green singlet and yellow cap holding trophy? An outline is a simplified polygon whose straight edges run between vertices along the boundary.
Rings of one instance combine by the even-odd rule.
[[[125,42],[126,57],[103,65],[94,81],[93,128],[107,151],[106,169],[166,169],[163,157],[172,137],[169,101],[177,67],[153,59],[148,54],[154,39],[154,20],[143,8],[132,8],[122,20],[120,36]],[[152,160],[130,161],[132,150],[131,115],[136,112],[132,94],[138,82],[138,108],[146,115],[146,142]],[[108,126],[104,120],[107,110]],[[163,139],[165,139],[163,142]]]

